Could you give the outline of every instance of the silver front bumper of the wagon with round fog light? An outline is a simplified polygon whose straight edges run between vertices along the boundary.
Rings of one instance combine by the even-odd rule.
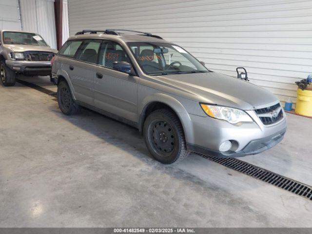
[[[194,137],[187,137],[187,149],[211,156],[240,157],[259,154],[284,138],[287,128],[285,113],[280,121],[272,125],[263,125],[254,111],[246,112],[254,122],[243,123],[240,126],[208,116],[190,115]],[[226,140],[234,142],[233,147],[227,152],[220,152],[219,146]]]

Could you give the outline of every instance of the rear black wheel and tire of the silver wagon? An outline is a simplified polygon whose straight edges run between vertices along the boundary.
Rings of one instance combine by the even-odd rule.
[[[80,106],[74,100],[66,81],[59,82],[58,103],[61,112],[67,116],[75,115],[80,111]]]

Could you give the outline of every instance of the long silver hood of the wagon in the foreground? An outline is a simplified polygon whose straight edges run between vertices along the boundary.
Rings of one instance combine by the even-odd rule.
[[[158,76],[160,80],[195,101],[252,110],[277,102],[268,90],[248,81],[215,72]]]

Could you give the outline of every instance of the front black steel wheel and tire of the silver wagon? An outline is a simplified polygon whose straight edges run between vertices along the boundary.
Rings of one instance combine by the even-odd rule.
[[[143,135],[149,152],[161,163],[171,164],[189,155],[182,124],[170,110],[152,112],[144,122]]]

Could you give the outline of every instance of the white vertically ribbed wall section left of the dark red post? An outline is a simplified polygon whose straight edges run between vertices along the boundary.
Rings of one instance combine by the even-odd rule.
[[[40,34],[57,48],[54,0],[20,0],[20,9],[23,30]]]

